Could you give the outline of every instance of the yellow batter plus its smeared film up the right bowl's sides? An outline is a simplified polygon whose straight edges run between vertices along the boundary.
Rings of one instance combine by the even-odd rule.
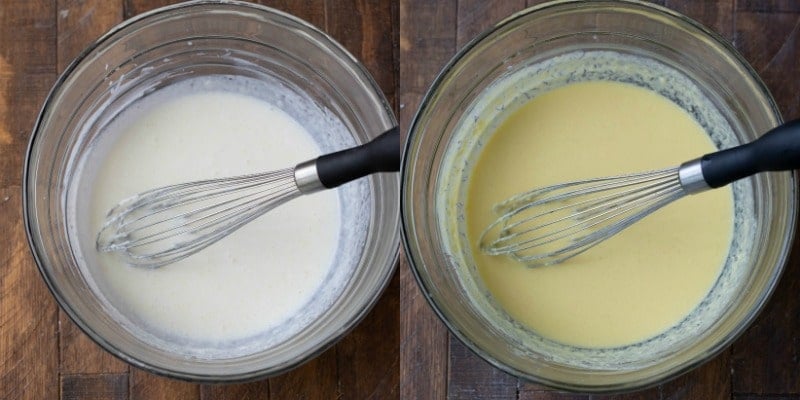
[[[496,79],[452,123],[434,204],[451,266],[443,273],[520,360],[641,369],[702,337],[739,295],[756,238],[748,179],[681,199],[567,264],[530,270],[476,251],[492,206],[513,194],[741,144],[690,75],[616,51],[543,55]]]

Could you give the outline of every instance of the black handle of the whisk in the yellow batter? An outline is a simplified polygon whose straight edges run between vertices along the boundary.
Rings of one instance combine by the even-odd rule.
[[[765,171],[800,168],[800,120],[784,123],[750,143],[706,154],[703,178],[712,188]]]

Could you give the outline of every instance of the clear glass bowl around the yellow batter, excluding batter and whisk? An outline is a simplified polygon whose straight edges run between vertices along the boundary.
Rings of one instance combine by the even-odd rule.
[[[607,63],[609,54],[623,61],[603,70],[597,65]],[[795,178],[769,173],[736,184],[738,255],[729,255],[711,292],[680,329],[607,349],[540,337],[496,306],[476,276],[465,243],[465,188],[484,139],[509,110],[536,93],[587,79],[654,90],[660,85],[662,94],[707,130],[728,133],[717,140],[719,147],[751,141],[781,122],[747,62],[724,39],[680,14],[639,1],[544,4],[470,42],[426,94],[401,167],[403,238],[429,303],[480,357],[557,388],[629,391],[710,359],[753,321],[775,288],[793,240]]]

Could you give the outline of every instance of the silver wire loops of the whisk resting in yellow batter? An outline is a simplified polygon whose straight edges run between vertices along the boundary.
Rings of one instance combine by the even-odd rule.
[[[482,233],[486,254],[529,266],[574,257],[685,195],[677,168],[535,189],[499,203]]]

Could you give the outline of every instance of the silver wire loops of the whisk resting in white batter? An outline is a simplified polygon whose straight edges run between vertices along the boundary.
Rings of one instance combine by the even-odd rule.
[[[131,265],[159,267],[196,253],[300,194],[292,168],[143,192],[109,212],[97,248],[116,251]]]

